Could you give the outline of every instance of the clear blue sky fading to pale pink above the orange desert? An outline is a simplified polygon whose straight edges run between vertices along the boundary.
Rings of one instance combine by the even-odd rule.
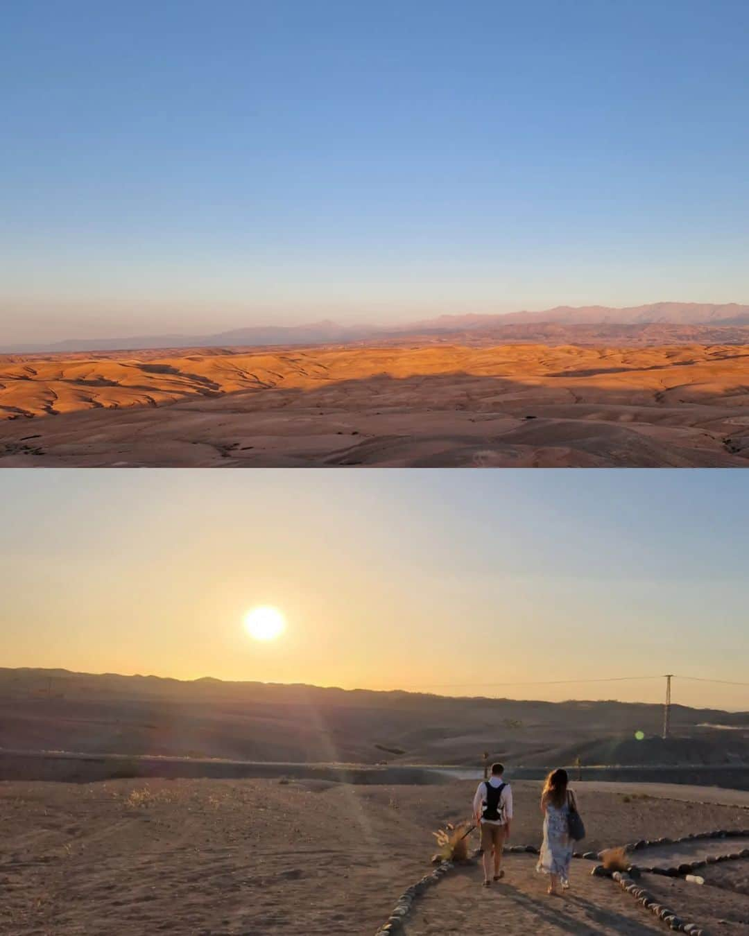
[[[747,301],[745,0],[24,0],[2,343]]]

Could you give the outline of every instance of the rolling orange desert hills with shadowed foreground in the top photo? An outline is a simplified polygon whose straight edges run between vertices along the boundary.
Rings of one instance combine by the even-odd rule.
[[[0,359],[0,464],[749,464],[749,352],[345,346]]]

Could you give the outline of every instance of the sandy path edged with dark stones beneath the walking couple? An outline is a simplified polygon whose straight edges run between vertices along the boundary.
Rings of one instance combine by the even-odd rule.
[[[405,936],[444,936],[468,931],[489,936],[498,928],[509,936],[527,932],[539,936],[562,933],[631,936],[662,932],[666,928],[704,936],[709,921],[725,927],[727,933],[734,932],[737,924],[749,931],[749,900],[744,895],[729,896],[725,892],[721,895],[711,887],[699,888],[704,899],[696,903],[694,893],[689,892],[694,891],[694,885],[683,880],[683,875],[695,866],[712,868],[726,862],[742,863],[749,856],[746,832],[732,834],[723,830],[683,840],[631,844],[630,859],[646,873],[641,881],[637,870],[632,870],[634,877],[614,874],[613,888],[613,882],[601,873],[602,867],[595,867],[591,873],[590,863],[578,859],[571,867],[572,887],[559,897],[546,893],[547,880],[536,872],[536,855],[527,854],[534,849],[528,846],[527,852],[523,852],[524,847],[506,853],[506,876],[489,888],[481,886],[483,874],[477,861],[458,868],[445,865],[433,873],[436,880],[428,882],[433,886],[426,894],[420,891],[424,895],[420,899],[413,901],[404,895],[405,914],[391,918],[385,930]],[[398,914],[397,908],[394,913]],[[648,921],[647,913],[655,919]]]

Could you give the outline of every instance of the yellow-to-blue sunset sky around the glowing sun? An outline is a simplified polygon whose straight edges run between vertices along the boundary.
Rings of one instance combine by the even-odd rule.
[[[510,683],[749,681],[741,472],[501,475],[7,469],[0,659],[551,699],[663,680]],[[264,605],[271,643],[242,627]],[[749,709],[749,686],[674,693]]]

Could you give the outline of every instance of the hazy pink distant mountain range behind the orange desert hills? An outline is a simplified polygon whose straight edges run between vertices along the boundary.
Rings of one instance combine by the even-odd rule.
[[[556,327],[556,332],[551,329]],[[653,326],[658,326],[654,331]],[[608,332],[606,327],[609,329]],[[610,329],[614,328],[611,332]],[[657,340],[656,335],[672,341],[734,341],[743,344],[747,335],[742,331],[723,329],[749,329],[749,305],[735,302],[713,304],[707,302],[654,302],[649,305],[627,306],[622,309],[591,305],[555,306],[542,312],[511,312],[505,314],[439,315],[403,326],[339,325],[328,320],[297,326],[260,326],[233,329],[209,335],[136,335],[129,338],[70,339],[52,344],[16,344],[0,348],[3,354],[65,353],[81,351],[128,351],[153,348],[184,347],[262,347],[292,344],[352,344],[362,341],[403,341],[408,338],[458,337],[480,338],[486,335],[496,340],[543,341],[545,335],[557,334],[558,329],[593,329],[596,337],[614,338],[619,329],[626,328],[634,340],[643,329],[653,334],[646,341]],[[693,329],[693,330],[692,330]],[[713,329],[706,332],[704,329]],[[714,329],[720,329],[714,332]],[[573,339],[574,340],[574,335]]]

